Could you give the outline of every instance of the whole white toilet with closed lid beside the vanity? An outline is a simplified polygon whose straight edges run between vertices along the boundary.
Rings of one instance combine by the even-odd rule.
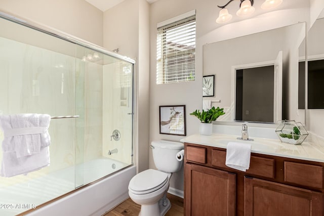
[[[184,149],[179,142],[153,141],[151,143],[156,168],[147,169],[134,176],[128,186],[131,199],[141,205],[141,216],[163,216],[171,207],[167,198],[173,172],[181,169],[182,160],[176,156]]]

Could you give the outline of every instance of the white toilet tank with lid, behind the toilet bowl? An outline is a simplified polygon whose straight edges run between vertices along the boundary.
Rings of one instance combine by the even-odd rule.
[[[165,172],[176,172],[181,169],[183,161],[178,161],[176,155],[184,149],[183,143],[172,141],[153,141],[153,160],[156,168]]]

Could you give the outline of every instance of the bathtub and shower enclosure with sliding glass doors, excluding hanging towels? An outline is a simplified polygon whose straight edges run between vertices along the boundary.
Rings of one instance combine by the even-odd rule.
[[[135,62],[0,17],[0,115],[52,116],[50,165],[0,177],[0,215],[101,215],[128,197],[136,173]]]

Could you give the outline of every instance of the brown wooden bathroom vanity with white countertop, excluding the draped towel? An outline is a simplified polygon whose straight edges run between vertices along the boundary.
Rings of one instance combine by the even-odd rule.
[[[185,215],[324,214],[324,148],[255,139],[250,168],[225,165],[231,135],[192,135],[185,143]]]

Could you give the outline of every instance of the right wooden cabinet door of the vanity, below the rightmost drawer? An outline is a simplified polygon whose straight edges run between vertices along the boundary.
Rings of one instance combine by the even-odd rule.
[[[322,216],[323,194],[259,179],[245,178],[245,216]]]

